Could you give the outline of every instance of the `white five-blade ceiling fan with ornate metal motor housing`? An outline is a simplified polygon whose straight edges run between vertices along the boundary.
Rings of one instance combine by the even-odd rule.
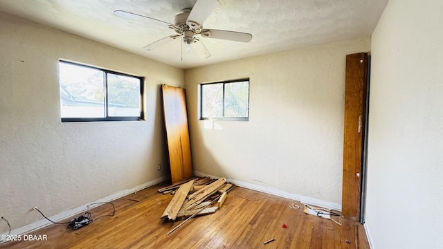
[[[218,0],[197,0],[194,7],[185,8],[181,10],[181,13],[175,15],[174,24],[125,10],[116,10],[114,15],[127,19],[149,21],[152,24],[167,25],[177,33],[177,35],[169,35],[156,42],[152,42],[152,44],[144,47],[146,50],[154,50],[181,37],[183,44],[186,44],[186,52],[190,53],[193,47],[200,57],[207,59],[210,57],[210,53],[200,37],[226,39],[235,42],[250,42],[252,39],[252,35],[249,33],[203,28],[204,21],[217,8],[218,3]],[[193,44],[192,47],[191,44]]]

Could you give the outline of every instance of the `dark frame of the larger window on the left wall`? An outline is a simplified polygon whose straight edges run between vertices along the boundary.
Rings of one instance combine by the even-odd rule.
[[[145,120],[145,107],[144,107],[144,102],[145,102],[145,97],[144,97],[144,86],[145,86],[145,77],[141,77],[141,76],[136,76],[136,75],[129,75],[127,73],[120,73],[120,72],[116,72],[116,71],[111,71],[105,68],[99,68],[97,66],[89,66],[89,65],[85,65],[85,64],[80,64],[78,62],[71,62],[69,60],[64,60],[64,59],[59,59],[59,65],[60,62],[66,63],[66,64],[72,64],[75,66],[82,66],[85,68],[92,68],[98,71],[102,71],[103,72],[103,80],[104,80],[104,93],[105,93],[105,107],[104,107],[104,111],[105,111],[105,117],[104,118],[63,118],[62,117],[62,113],[60,111],[60,118],[63,122],[108,122],[108,121],[142,121]],[[60,68],[59,68],[59,73],[60,73]],[[138,80],[140,80],[140,101],[141,101],[141,110],[140,110],[140,116],[109,116],[109,107],[108,107],[108,74],[113,74],[113,75],[121,75],[121,76],[125,76],[125,77],[133,77],[136,78]],[[59,76],[59,93],[60,93],[60,76]],[[61,110],[61,101],[60,101],[60,95],[59,95],[59,104],[60,104],[60,110]]]

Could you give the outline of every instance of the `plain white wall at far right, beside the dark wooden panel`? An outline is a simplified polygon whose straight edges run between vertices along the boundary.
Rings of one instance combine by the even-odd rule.
[[[372,36],[373,248],[443,248],[443,2],[391,0]]]

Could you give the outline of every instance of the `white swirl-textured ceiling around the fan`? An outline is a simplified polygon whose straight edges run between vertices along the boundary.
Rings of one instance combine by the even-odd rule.
[[[173,23],[174,15],[196,0],[1,0],[0,10],[47,26],[150,57],[192,68],[276,51],[370,37],[388,0],[219,0],[204,28],[251,33],[249,43],[201,38],[211,57],[181,53],[179,39],[147,51],[170,28],[124,19],[126,10]],[[200,0],[205,1],[205,0]],[[184,48],[183,48],[184,50]],[[183,54],[183,55],[182,55]]]

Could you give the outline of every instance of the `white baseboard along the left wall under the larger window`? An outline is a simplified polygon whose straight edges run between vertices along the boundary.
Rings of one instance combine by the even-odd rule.
[[[114,201],[116,199],[119,199],[120,197],[126,196],[127,194],[131,194],[131,193],[137,192],[139,190],[143,190],[146,187],[151,187],[152,185],[156,185],[157,183],[161,183],[163,181],[166,181],[169,178],[170,178],[170,176],[162,176],[160,178],[154,179],[153,181],[149,181],[147,183],[143,183],[143,184],[138,185],[136,187],[132,187],[128,190],[122,190],[122,191],[117,192],[115,194],[111,194],[111,195],[106,196],[102,199],[98,199],[97,201],[91,201],[91,203],[105,203],[105,202],[109,202],[109,201]],[[64,220],[66,218],[69,218],[71,216],[75,216],[76,214],[80,214],[82,212],[85,212],[85,211],[91,209],[91,208],[88,208],[88,205],[90,205],[91,203],[81,205],[80,207],[73,208],[71,210],[66,210],[64,212],[61,212],[60,214],[55,214],[55,215],[48,217],[48,218],[51,219],[51,221],[55,221],[55,222]],[[94,206],[94,208],[95,207],[96,206]],[[48,221],[46,219],[42,219],[42,220],[37,221],[35,223],[22,226],[21,228],[16,228],[14,230],[11,230],[10,234],[14,234],[14,235],[27,234],[29,232],[33,232],[37,229],[44,228],[45,226],[51,225],[51,224],[52,223],[50,221]],[[1,235],[6,235],[6,234],[8,234],[8,233],[6,232]],[[6,241],[0,241],[0,243],[3,243],[3,242],[6,242]]]

